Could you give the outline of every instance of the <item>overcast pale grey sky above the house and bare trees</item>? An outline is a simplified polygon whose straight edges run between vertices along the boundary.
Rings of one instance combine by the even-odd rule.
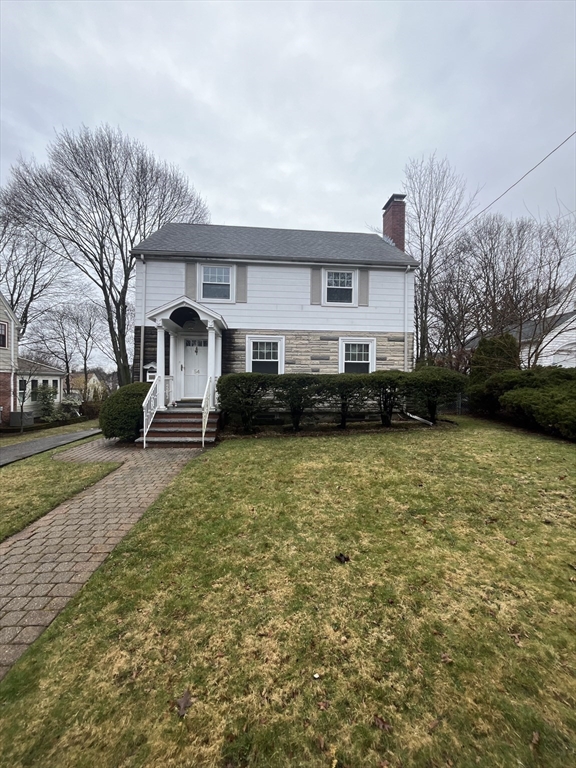
[[[216,224],[365,231],[436,151],[487,205],[573,130],[576,4],[1,2],[2,182],[108,122]],[[494,206],[576,208],[576,138]]]

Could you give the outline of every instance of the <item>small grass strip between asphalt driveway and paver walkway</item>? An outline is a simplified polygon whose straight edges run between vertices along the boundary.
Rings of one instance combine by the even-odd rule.
[[[87,438],[89,442],[92,438]],[[75,443],[75,445],[79,445]],[[0,467],[0,541],[21,531],[63,501],[98,482],[118,463],[54,461],[69,445]]]

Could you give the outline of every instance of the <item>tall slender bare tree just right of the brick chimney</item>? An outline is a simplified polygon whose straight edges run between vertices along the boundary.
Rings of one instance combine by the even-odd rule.
[[[476,205],[466,182],[446,158],[411,159],[404,169],[406,194],[406,250],[420,264],[416,272],[416,359],[432,352],[431,297],[442,259]]]

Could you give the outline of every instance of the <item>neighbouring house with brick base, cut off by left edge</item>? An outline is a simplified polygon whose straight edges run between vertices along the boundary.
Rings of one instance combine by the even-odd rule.
[[[20,323],[8,301],[0,293],[0,421],[10,423],[10,414],[20,411],[39,413],[38,389],[52,387],[56,401],[62,397],[62,382],[66,374],[60,368],[27,360],[18,355]]]

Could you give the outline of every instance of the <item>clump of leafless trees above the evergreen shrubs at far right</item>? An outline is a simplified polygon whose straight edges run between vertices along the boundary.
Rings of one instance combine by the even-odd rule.
[[[575,254],[574,222],[565,218],[490,214],[474,221],[440,261],[432,285],[437,351],[455,360],[475,334],[511,333],[523,363],[536,365],[561,330],[559,318],[573,309]]]

